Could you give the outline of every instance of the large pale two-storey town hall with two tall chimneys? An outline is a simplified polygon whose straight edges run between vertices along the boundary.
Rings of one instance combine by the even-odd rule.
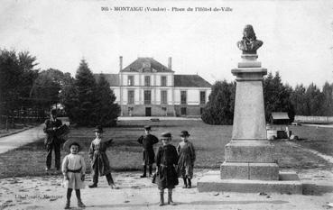
[[[119,73],[105,74],[122,116],[199,116],[211,85],[199,75],[176,75],[153,58],[138,58]]]

